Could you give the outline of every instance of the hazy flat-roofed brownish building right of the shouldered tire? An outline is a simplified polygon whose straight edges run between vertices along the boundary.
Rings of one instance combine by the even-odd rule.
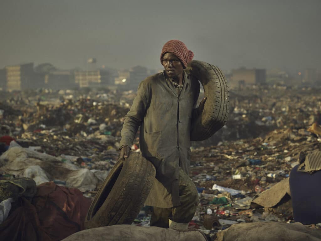
[[[239,88],[245,85],[262,85],[266,83],[265,69],[233,69],[229,86]]]

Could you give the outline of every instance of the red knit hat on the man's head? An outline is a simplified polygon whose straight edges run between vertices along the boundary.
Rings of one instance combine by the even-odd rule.
[[[166,53],[172,53],[177,56],[182,62],[184,68],[187,67],[189,61],[194,57],[194,53],[191,50],[188,50],[186,45],[179,40],[169,40],[164,44],[163,49],[161,50],[160,63],[163,64],[163,56]]]

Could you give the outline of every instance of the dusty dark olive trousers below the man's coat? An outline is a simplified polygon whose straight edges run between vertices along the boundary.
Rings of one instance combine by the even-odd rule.
[[[171,219],[177,223],[188,223],[194,217],[198,204],[198,192],[189,176],[182,170],[179,170],[179,199],[180,206],[173,208],[153,207],[150,226],[168,228]]]

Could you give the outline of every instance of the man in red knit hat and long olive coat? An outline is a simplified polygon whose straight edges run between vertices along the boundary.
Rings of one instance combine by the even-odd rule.
[[[193,57],[183,42],[165,43],[160,55],[164,71],[139,84],[121,130],[120,158],[128,157],[140,126],[142,155],[156,168],[157,180],[147,198],[154,207],[151,226],[186,229],[198,203],[196,187],[188,177],[190,129],[206,98],[194,109],[200,85],[184,71]]]

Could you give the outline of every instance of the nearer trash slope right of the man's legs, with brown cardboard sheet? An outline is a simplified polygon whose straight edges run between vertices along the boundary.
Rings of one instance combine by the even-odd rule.
[[[210,228],[205,224],[212,216],[219,216],[211,221],[217,229],[237,222],[292,222],[290,191],[287,193],[284,186],[277,185],[285,180],[289,189],[289,173],[299,165],[300,153],[321,150],[320,137],[321,133],[317,136],[306,129],[277,129],[265,138],[194,149],[191,177],[200,197],[195,222],[205,229]],[[264,191],[272,187],[278,189],[268,195],[272,198],[270,203],[257,205],[262,202],[256,198],[266,195]]]

